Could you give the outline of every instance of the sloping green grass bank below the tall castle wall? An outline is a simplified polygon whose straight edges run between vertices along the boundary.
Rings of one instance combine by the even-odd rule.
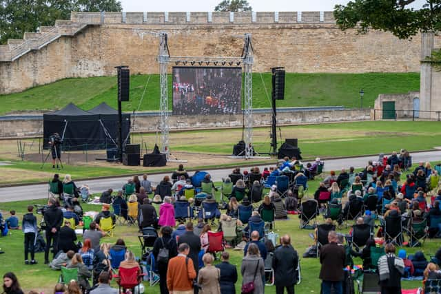
[[[150,78],[150,79],[149,79]],[[147,83],[148,80],[148,83]],[[172,105],[172,76],[169,75],[169,92]],[[278,107],[334,106],[360,107],[360,89],[365,91],[364,107],[373,107],[378,94],[407,93],[420,88],[419,73],[371,73],[371,74],[296,74],[287,73],[285,100],[277,101]],[[271,74],[253,74],[253,106],[271,107],[265,94],[271,95]],[[130,101],[123,103],[123,110],[140,111],[159,109],[159,76],[133,75],[130,80]],[[61,81],[34,87],[20,93],[1,95],[0,114],[22,110],[54,110],[72,102],[83,109],[91,109],[105,101],[112,107],[116,103],[116,77],[66,78]],[[171,109],[171,108],[170,108]]]

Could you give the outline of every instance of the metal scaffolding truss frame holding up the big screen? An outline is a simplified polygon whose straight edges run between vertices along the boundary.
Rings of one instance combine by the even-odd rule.
[[[252,71],[254,63],[254,50],[252,46],[252,35],[245,34],[242,56],[170,56],[170,51],[167,44],[167,33],[161,32],[159,34],[159,83],[161,87],[161,102],[160,102],[160,117],[159,129],[161,130],[161,151],[167,154],[167,160],[170,156],[169,147],[169,125],[168,125],[168,90],[167,90],[167,65],[168,63],[175,63],[176,65],[182,63],[183,65],[214,65],[214,66],[240,66],[243,65],[245,74],[244,83],[244,99],[245,109],[244,124],[245,124],[245,154],[242,157],[250,158],[254,156],[253,151],[253,92],[252,92]]]

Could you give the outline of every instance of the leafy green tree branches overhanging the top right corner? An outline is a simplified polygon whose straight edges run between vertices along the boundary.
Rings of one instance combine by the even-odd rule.
[[[353,0],[336,5],[334,18],[342,30],[370,28],[391,32],[400,39],[411,39],[418,32],[441,29],[441,0],[425,0],[418,10],[409,8],[416,0]]]

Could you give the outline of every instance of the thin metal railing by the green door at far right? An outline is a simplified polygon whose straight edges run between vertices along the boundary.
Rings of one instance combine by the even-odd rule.
[[[373,120],[433,120],[441,121],[441,111],[373,109]]]

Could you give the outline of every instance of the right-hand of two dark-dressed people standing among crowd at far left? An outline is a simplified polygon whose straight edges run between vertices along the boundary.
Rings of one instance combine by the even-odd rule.
[[[44,213],[46,230],[46,248],[44,251],[44,263],[49,263],[49,249],[53,246],[54,258],[57,254],[57,242],[61,224],[63,223],[63,211],[57,207],[57,200],[50,198],[48,209]],[[53,244],[52,244],[53,243]]]

